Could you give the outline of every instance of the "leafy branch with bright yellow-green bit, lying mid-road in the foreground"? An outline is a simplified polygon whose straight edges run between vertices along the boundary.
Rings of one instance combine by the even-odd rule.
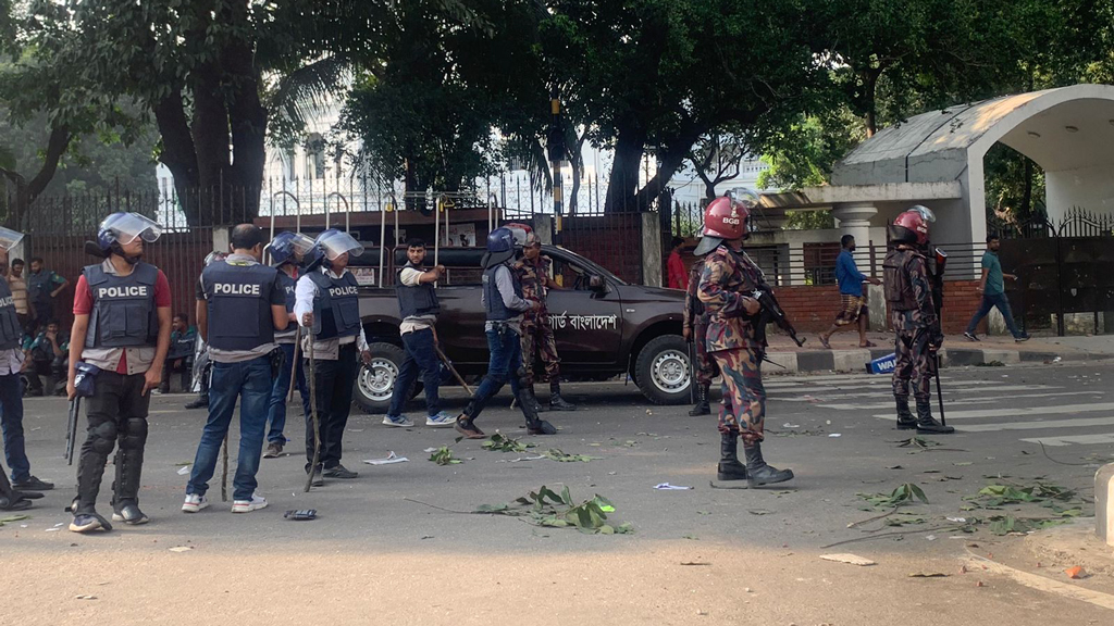
[[[480,505],[475,512],[517,517],[535,526],[576,528],[589,535],[625,535],[634,532],[629,524],[615,526],[607,521],[607,513],[615,512],[610,500],[596,493],[594,498],[576,503],[568,487],[558,495],[541,486],[537,491],[501,505]]]

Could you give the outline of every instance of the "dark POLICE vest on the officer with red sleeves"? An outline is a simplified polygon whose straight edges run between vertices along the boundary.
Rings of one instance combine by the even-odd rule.
[[[119,276],[98,264],[87,266],[82,273],[92,294],[86,348],[154,348],[158,343],[157,267],[140,262],[130,274]]]

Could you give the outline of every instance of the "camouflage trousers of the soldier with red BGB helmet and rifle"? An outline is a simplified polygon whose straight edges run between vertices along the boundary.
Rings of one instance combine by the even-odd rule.
[[[712,353],[723,373],[720,432],[739,432],[744,443],[762,441],[765,388],[762,387],[762,350],[737,348]]]

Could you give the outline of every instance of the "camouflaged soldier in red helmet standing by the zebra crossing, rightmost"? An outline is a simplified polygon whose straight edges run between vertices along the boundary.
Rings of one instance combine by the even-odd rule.
[[[893,399],[898,410],[898,429],[917,429],[919,433],[955,432],[932,417],[929,379],[936,353],[944,344],[939,309],[932,300],[932,280],[925,255],[917,246],[928,243],[928,224],[932,213],[921,206],[902,213],[889,227],[892,248],[886,255],[886,300],[890,305],[890,324],[896,334],[897,363],[893,366]],[[917,415],[909,411],[909,383],[917,399]]]

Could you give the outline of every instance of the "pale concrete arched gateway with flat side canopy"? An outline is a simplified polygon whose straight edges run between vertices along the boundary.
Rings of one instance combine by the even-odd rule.
[[[986,237],[983,159],[996,143],[1045,170],[1048,216],[1072,207],[1114,213],[1114,86],[1074,85],[1003,96],[921,114],[851,150],[832,184],[765,196],[773,209],[827,208],[858,241],[885,241],[881,228],[911,204],[937,214],[932,239]]]

